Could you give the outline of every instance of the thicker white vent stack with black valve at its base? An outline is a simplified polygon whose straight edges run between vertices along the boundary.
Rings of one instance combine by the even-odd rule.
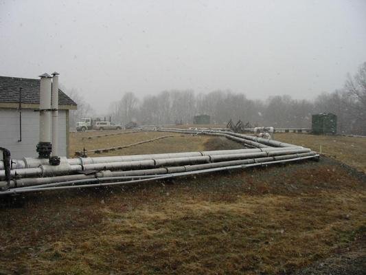
[[[39,143],[36,151],[40,158],[47,158],[52,150],[51,144],[51,78],[45,73],[39,76],[40,99],[39,99]]]

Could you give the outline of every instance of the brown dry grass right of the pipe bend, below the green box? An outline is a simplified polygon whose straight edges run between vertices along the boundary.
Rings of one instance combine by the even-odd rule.
[[[366,138],[276,133],[275,140],[311,148],[366,173]]]

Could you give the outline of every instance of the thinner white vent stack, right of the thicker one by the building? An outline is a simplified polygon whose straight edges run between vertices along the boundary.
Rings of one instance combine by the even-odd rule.
[[[58,155],[58,75],[52,74],[52,157]]]

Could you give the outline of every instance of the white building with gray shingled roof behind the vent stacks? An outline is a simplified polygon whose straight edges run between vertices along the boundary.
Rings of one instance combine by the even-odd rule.
[[[10,150],[12,159],[38,157],[39,88],[39,79],[0,76],[0,146]],[[69,110],[76,103],[58,91],[58,155],[68,156]]]

